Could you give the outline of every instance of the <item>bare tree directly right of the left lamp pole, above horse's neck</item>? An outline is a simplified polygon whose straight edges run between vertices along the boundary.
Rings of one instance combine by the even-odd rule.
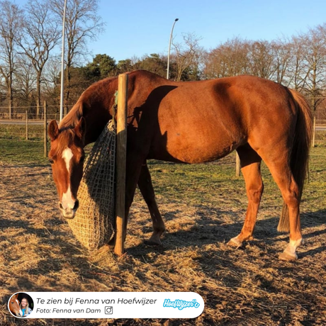
[[[57,21],[62,23],[64,0],[50,0]],[[104,24],[98,14],[99,0],[67,0],[66,9],[66,91],[64,114],[67,114],[71,88],[72,66],[79,55],[86,54],[86,40],[94,40]]]

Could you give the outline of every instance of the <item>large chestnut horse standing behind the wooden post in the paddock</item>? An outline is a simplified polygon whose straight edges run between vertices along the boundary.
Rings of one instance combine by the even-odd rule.
[[[91,85],[60,125],[49,125],[52,173],[64,218],[74,218],[79,203],[84,146],[99,137],[113,116],[118,77]],[[297,259],[302,242],[300,199],[312,134],[308,103],[296,91],[259,77],[240,76],[176,82],[145,70],[129,73],[125,216],[136,186],[150,210],[159,245],[164,232],[147,159],[211,162],[237,150],[247,188],[245,224],[230,245],[252,238],[264,189],[262,159],[283,196],[279,231],[290,230],[281,259]],[[125,223],[125,230],[126,225]]]

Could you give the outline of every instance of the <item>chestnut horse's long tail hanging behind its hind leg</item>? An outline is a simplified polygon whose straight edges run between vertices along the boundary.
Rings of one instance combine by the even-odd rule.
[[[303,192],[303,184],[305,183],[305,176],[308,174],[309,151],[311,138],[313,136],[313,117],[309,104],[305,98],[293,89],[289,89],[289,91],[291,91],[293,99],[296,102],[299,110],[291,152],[290,166],[293,178],[298,184],[300,202]],[[283,210],[277,230],[279,232],[288,232],[289,229],[290,222],[288,218],[288,206],[286,206],[286,203],[283,203]]]

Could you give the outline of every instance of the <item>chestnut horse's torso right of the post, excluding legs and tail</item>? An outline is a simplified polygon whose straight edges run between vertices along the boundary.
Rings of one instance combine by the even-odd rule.
[[[246,143],[273,147],[296,121],[288,89],[259,77],[176,82],[136,71],[129,88],[134,129],[155,159],[209,162]]]

